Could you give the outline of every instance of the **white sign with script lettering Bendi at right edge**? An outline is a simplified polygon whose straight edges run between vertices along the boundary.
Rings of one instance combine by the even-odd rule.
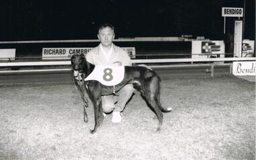
[[[233,62],[233,75],[254,75],[256,69],[255,61]]]

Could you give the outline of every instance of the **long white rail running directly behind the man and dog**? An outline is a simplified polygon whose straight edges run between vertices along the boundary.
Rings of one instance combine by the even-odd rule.
[[[243,58],[165,58],[165,59],[133,59],[134,64],[147,64],[152,69],[154,68],[173,68],[173,67],[210,67],[211,76],[214,76],[215,66],[230,66],[230,74],[232,73],[233,61],[256,61],[255,57]],[[226,62],[226,63],[217,63]],[[228,62],[228,63],[227,63]],[[168,65],[159,65],[168,63]],[[190,64],[181,64],[190,63]],[[199,63],[199,64],[194,64]],[[70,61],[36,61],[36,62],[4,62],[0,63],[0,67],[31,67],[31,66],[58,66],[71,65]],[[56,72],[56,71],[71,71],[71,67],[65,69],[27,69],[27,70],[8,70],[0,71],[0,73],[38,73],[38,72]]]

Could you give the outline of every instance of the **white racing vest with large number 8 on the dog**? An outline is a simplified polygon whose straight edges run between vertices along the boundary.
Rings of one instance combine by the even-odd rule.
[[[85,81],[96,80],[102,85],[113,86],[121,83],[124,75],[124,66],[96,65],[94,71],[86,77]]]

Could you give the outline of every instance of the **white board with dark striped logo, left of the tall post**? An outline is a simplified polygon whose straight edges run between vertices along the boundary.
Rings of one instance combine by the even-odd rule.
[[[193,40],[192,58],[224,57],[225,44],[223,40]]]

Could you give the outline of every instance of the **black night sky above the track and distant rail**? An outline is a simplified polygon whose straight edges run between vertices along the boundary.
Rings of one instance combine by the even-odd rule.
[[[2,1],[0,41],[96,39],[104,22],[117,28],[117,38],[189,34],[223,40],[222,7],[243,5],[244,0]],[[226,18],[226,34],[234,32],[231,21]],[[246,0],[245,38],[255,40],[255,0]]]

